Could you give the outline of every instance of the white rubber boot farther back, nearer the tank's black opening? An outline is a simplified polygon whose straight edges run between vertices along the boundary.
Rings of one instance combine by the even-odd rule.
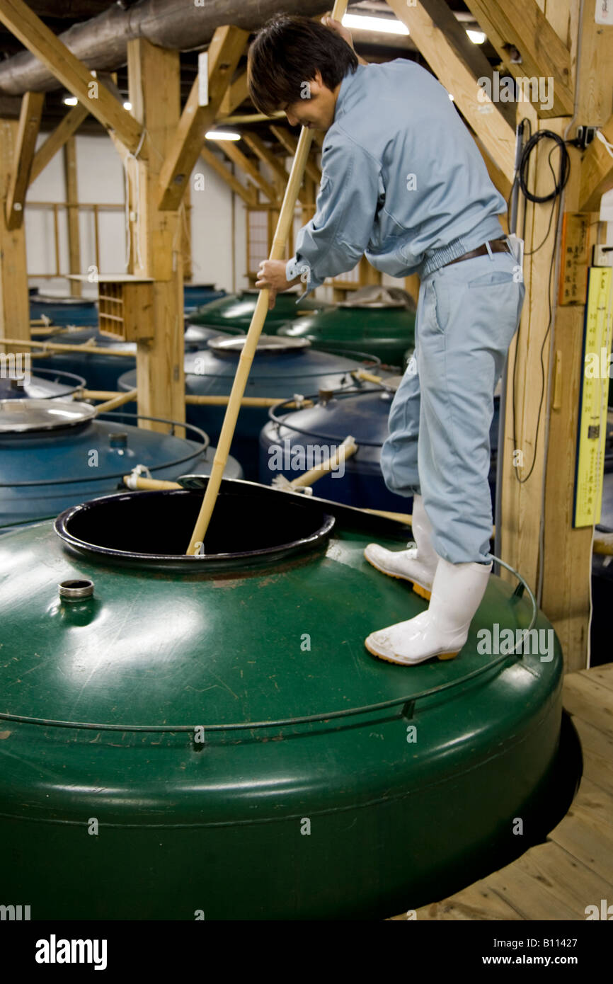
[[[439,555],[432,546],[432,525],[420,495],[413,496],[412,530],[415,543],[408,550],[386,550],[377,543],[369,543],[364,557],[382,574],[410,581],[413,590],[429,601]]]

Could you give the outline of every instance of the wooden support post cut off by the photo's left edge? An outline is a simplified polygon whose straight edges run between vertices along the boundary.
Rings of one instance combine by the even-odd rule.
[[[15,148],[19,123],[0,119],[0,338],[30,338],[30,300],[24,225],[10,229],[6,220],[6,199],[15,169]],[[15,346],[3,351],[17,351]]]

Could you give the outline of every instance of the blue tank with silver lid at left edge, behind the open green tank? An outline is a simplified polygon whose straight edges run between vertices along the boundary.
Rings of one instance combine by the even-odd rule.
[[[187,425],[185,439],[117,422],[117,416],[96,418],[90,403],[0,400],[0,531],[125,489],[122,476],[137,464],[167,480],[210,473],[215,449],[198,428]],[[224,474],[240,478],[242,469],[228,459]]]

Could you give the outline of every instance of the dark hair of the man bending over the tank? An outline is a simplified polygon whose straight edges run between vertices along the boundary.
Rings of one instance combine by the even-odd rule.
[[[275,17],[258,31],[249,49],[249,94],[262,113],[296,102],[305,82],[319,69],[328,89],[336,89],[357,68],[353,48],[326,25],[306,17]]]

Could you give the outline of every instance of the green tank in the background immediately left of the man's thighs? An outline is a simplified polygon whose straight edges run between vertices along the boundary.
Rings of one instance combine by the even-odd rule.
[[[315,348],[359,348],[384,365],[401,366],[406,349],[415,344],[415,304],[399,287],[362,287],[336,307],[299,318],[277,334],[308,338]]]

